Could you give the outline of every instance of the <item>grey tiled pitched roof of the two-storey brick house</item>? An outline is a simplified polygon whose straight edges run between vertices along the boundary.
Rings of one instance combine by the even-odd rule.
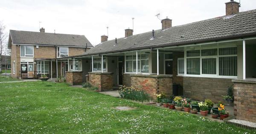
[[[55,46],[82,46],[93,47],[84,35],[75,34],[54,34],[35,31],[10,30],[12,43],[55,45]]]

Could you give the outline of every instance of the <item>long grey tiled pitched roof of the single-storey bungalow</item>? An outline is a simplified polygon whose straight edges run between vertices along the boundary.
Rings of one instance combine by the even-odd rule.
[[[256,36],[256,10],[155,30],[154,38],[150,31],[119,38],[117,43],[115,40],[109,40],[91,48],[84,55],[186,45],[247,36]]]

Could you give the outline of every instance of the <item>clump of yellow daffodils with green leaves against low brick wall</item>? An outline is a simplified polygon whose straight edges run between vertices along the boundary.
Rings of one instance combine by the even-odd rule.
[[[134,87],[123,86],[119,88],[119,94],[122,98],[136,100],[143,102],[145,100],[150,100],[149,94],[145,93],[142,90],[135,89]]]

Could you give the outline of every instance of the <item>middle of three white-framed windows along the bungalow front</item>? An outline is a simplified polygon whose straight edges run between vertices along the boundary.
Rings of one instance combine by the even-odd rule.
[[[148,73],[148,54],[138,54],[138,72]],[[136,72],[136,55],[126,55],[126,72]]]

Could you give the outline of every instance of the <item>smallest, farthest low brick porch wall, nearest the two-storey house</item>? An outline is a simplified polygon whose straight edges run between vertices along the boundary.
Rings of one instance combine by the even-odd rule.
[[[68,71],[66,72],[66,82],[70,85],[79,85],[83,81],[82,71]]]

